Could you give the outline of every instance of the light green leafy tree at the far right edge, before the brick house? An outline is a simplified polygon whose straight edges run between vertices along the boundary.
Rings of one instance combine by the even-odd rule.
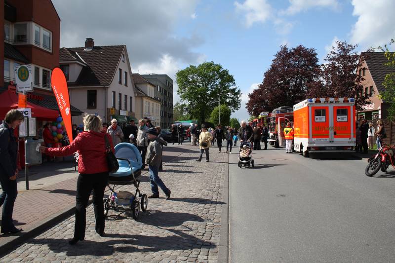
[[[391,39],[390,45],[395,43],[395,39]],[[391,73],[388,73],[384,79],[383,86],[386,88],[384,92],[380,93],[380,98],[389,104],[388,120],[395,119],[395,52],[390,52],[387,45],[379,47],[383,52],[388,62],[386,66],[391,67]]]

